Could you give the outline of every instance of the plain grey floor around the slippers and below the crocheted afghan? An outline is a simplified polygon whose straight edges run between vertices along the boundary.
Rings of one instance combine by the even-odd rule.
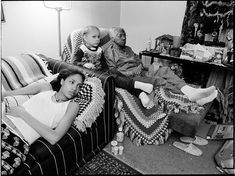
[[[224,140],[210,140],[206,146],[198,146],[201,156],[193,156],[172,145],[180,141],[179,133],[173,132],[165,144],[135,146],[128,137],[124,138],[124,151],[115,157],[124,161],[143,174],[221,174],[216,169],[214,155],[224,144]],[[111,153],[110,144],[105,147]]]

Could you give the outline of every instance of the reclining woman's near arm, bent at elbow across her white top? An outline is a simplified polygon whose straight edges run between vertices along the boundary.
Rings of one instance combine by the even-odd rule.
[[[48,142],[54,145],[58,142],[68,131],[74,118],[76,117],[79,110],[79,104],[76,100],[72,100],[63,116],[62,120],[55,129],[51,129],[47,125],[39,122],[32,115],[30,115],[23,107],[16,107],[11,109],[8,114],[12,116],[18,116],[22,118],[27,124],[29,124],[33,129],[35,129],[40,136],[45,138]]]

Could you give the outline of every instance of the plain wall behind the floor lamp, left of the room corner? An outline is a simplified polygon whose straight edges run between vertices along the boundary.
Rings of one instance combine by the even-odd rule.
[[[2,56],[31,51],[58,57],[57,12],[43,1],[3,1]],[[112,12],[112,13],[110,13]],[[62,46],[68,34],[86,25],[120,24],[120,1],[72,1],[72,10],[61,12]]]

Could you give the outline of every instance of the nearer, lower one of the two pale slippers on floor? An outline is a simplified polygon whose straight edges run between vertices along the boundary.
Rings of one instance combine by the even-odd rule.
[[[186,153],[194,155],[194,156],[202,155],[202,151],[199,148],[197,148],[195,145],[193,145],[192,143],[184,144],[181,142],[174,142],[173,146],[175,146],[176,148],[178,148],[180,150],[183,150]]]

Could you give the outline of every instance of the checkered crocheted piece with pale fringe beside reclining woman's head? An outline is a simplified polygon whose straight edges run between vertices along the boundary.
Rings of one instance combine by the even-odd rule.
[[[87,127],[91,127],[102,112],[104,105],[104,90],[99,78],[88,77],[78,94],[78,103],[80,105],[77,117],[73,125],[81,132],[86,131]]]

